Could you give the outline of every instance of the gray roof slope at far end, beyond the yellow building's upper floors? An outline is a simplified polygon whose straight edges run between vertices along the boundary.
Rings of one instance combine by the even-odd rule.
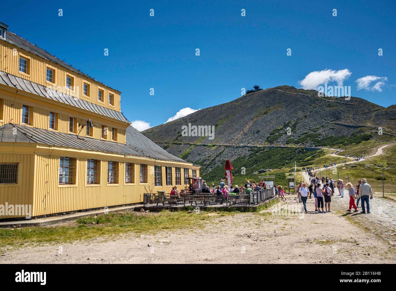
[[[165,149],[158,146],[155,142],[150,140],[147,136],[143,135],[137,129],[129,126],[125,130],[126,133],[126,144],[140,149],[145,154],[155,159],[169,160],[169,161],[179,161],[188,163],[187,161],[168,153]]]

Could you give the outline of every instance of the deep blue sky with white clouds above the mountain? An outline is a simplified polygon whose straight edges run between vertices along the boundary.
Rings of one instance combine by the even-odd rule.
[[[0,22],[121,91],[122,112],[144,130],[253,85],[350,86],[395,104],[395,10],[395,1],[6,1]]]

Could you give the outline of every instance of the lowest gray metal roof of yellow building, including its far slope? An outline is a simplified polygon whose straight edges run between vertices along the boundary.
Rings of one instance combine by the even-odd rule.
[[[13,132],[14,127],[17,130],[17,134]],[[9,123],[0,127],[0,142],[29,142],[188,163],[179,157],[171,155],[135,128],[132,129],[131,127],[127,129],[127,140],[129,142],[120,144],[94,138],[77,138],[75,134],[65,134]]]

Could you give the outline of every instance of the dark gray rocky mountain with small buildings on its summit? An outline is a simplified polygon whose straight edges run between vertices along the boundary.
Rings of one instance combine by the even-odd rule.
[[[315,90],[285,85],[196,111],[143,134],[208,172],[225,159],[259,155],[253,150],[257,146],[345,147],[369,140],[378,127],[394,135],[395,113],[394,105],[384,108],[358,97],[318,96]],[[214,136],[184,136],[189,123],[213,126]],[[280,163],[291,165],[291,158]]]

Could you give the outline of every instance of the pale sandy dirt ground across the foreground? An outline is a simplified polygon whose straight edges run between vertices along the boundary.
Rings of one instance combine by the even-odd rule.
[[[297,207],[296,195],[276,207]],[[0,263],[394,263],[392,246],[336,213],[216,217],[205,228],[6,251]],[[274,215],[273,215],[274,214]],[[191,214],[202,215],[202,214]],[[61,251],[60,251],[61,250]]]

